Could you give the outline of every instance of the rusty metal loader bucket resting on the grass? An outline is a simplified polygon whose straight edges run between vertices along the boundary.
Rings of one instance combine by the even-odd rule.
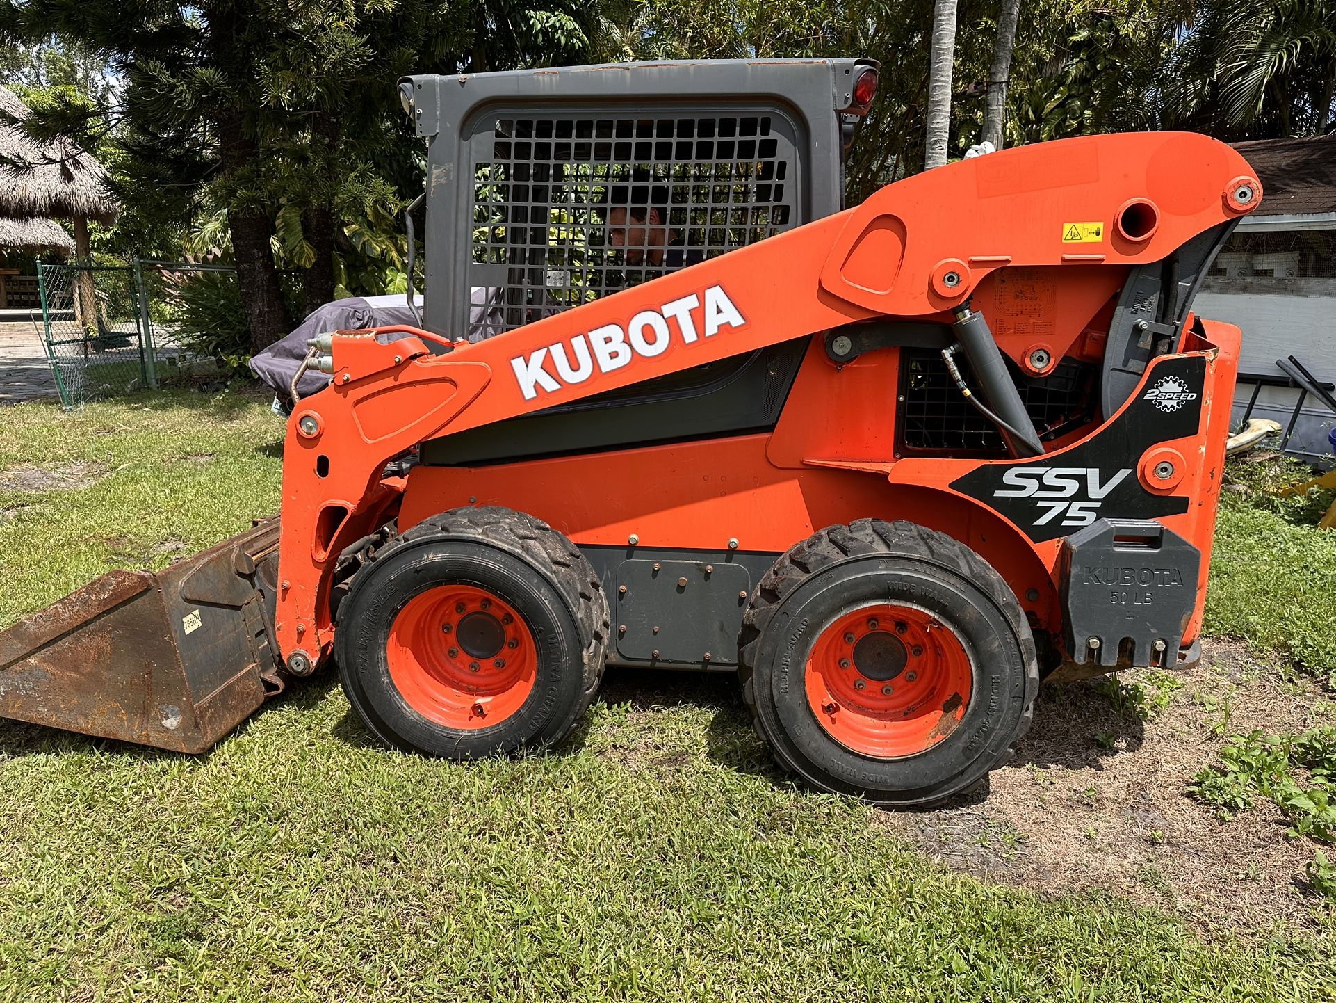
[[[166,571],[112,571],[0,633],[0,718],[199,753],[274,674],[271,519]]]

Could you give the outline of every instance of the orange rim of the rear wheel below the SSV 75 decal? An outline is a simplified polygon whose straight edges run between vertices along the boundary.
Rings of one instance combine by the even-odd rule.
[[[961,723],[974,666],[955,631],[926,610],[876,604],[816,638],[807,702],[836,742],[888,760],[931,749]]]

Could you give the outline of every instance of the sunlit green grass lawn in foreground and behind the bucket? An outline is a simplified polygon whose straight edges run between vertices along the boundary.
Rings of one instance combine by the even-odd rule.
[[[102,475],[0,483],[0,626],[278,508],[244,397],[0,420],[0,472]],[[1336,998],[1329,920],[1204,941],[947,872],[776,774],[725,677],[615,674],[561,753],[474,765],[382,749],[329,677],[195,758],[4,722],[0,818],[0,1000]]]

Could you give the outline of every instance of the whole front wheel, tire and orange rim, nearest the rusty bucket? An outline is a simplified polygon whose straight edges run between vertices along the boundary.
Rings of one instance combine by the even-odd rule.
[[[564,535],[509,508],[457,508],[362,567],[334,637],[343,691],[402,749],[453,760],[546,749],[603,678],[608,600]]]

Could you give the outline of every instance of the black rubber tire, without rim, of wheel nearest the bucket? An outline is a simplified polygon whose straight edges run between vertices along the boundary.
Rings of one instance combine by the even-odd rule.
[[[450,729],[413,710],[386,658],[390,626],[438,584],[488,588],[525,618],[537,646],[533,691],[500,723]],[[401,534],[353,576],[334,654],[353,707],[382,741],[452,760],[548,749],[588,710],[603,678],[608,599],[580,550],[546,523],[500,507],[456,508]]]

